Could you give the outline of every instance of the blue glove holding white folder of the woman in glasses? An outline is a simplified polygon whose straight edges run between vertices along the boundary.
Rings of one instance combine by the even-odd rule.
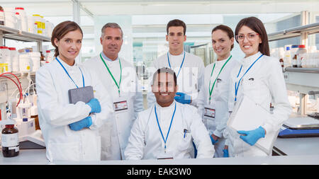
[[[264,134],[265,134],[264,128],[262,128],[261,126],[259,126],[257,129],[254,129],[254,130],[249,130],[249,131],[240,130],[237,132],[239,134],[244,134],[244,136],[240,136],[240,139],[247,142],[247,144],[250,144],[251,146],[256,144],[257,140],[264,137]]]

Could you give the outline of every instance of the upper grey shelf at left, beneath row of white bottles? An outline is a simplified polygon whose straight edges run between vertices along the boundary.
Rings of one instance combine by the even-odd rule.
[[[17,30],[14,28],[9,28],[4,25],[0,25],[0,36],[10,40],[19,40],[23,42],[50,42],[51,38],[38,35],[34,33],[28,33],[23,30]]]

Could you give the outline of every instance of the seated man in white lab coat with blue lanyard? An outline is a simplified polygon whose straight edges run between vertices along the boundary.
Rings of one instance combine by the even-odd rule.
[[[178,90],[172,69],[158,69],[153,75],[152,92],[157,103],[138,114],[125,149],[127,160],[156,158],[213,158],[208,131],[191,105],[174,100]]]

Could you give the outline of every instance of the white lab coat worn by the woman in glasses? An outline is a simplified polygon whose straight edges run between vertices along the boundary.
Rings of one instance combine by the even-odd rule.
[[[261,54],[261,52],[258,52],[242,59],[241,71],[240,66],[233,69],[231,73],[232,82],[230,83],[230,95],[233,97],[230,98],[230,104],[235,100],[235,82],[238,83],[241,76],[245,74],[245,71]],[[240,75],[237,78],[239,71]],[[262,108],[269,109],[269,112],[270,103],[274,105],[273,118],[265,119],[266,122],[262,125],[267,133],[279,129],[291,114],[286,83],[279,59],[266,55],[262,56],[242,78],[237,92],[237,100],[240,99],[243,93],[252,98],[256,103],[259,103]],[[233,108],[233,106],[230,106],[230,108]],[[237,131],[228,127],[226,135],[228,136],[226,144],[229,146],[230,156],[267,156],[264,151],[256,146],[250,146],[250,144],[240,139]]]

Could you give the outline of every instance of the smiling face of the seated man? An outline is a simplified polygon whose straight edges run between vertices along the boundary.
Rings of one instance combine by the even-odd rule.
[[[171,105],[174,101],[178,86],[174,83],[174,75],[169,73],[159,73],[152,85],[152,92],[157,103],[162,107]]]

